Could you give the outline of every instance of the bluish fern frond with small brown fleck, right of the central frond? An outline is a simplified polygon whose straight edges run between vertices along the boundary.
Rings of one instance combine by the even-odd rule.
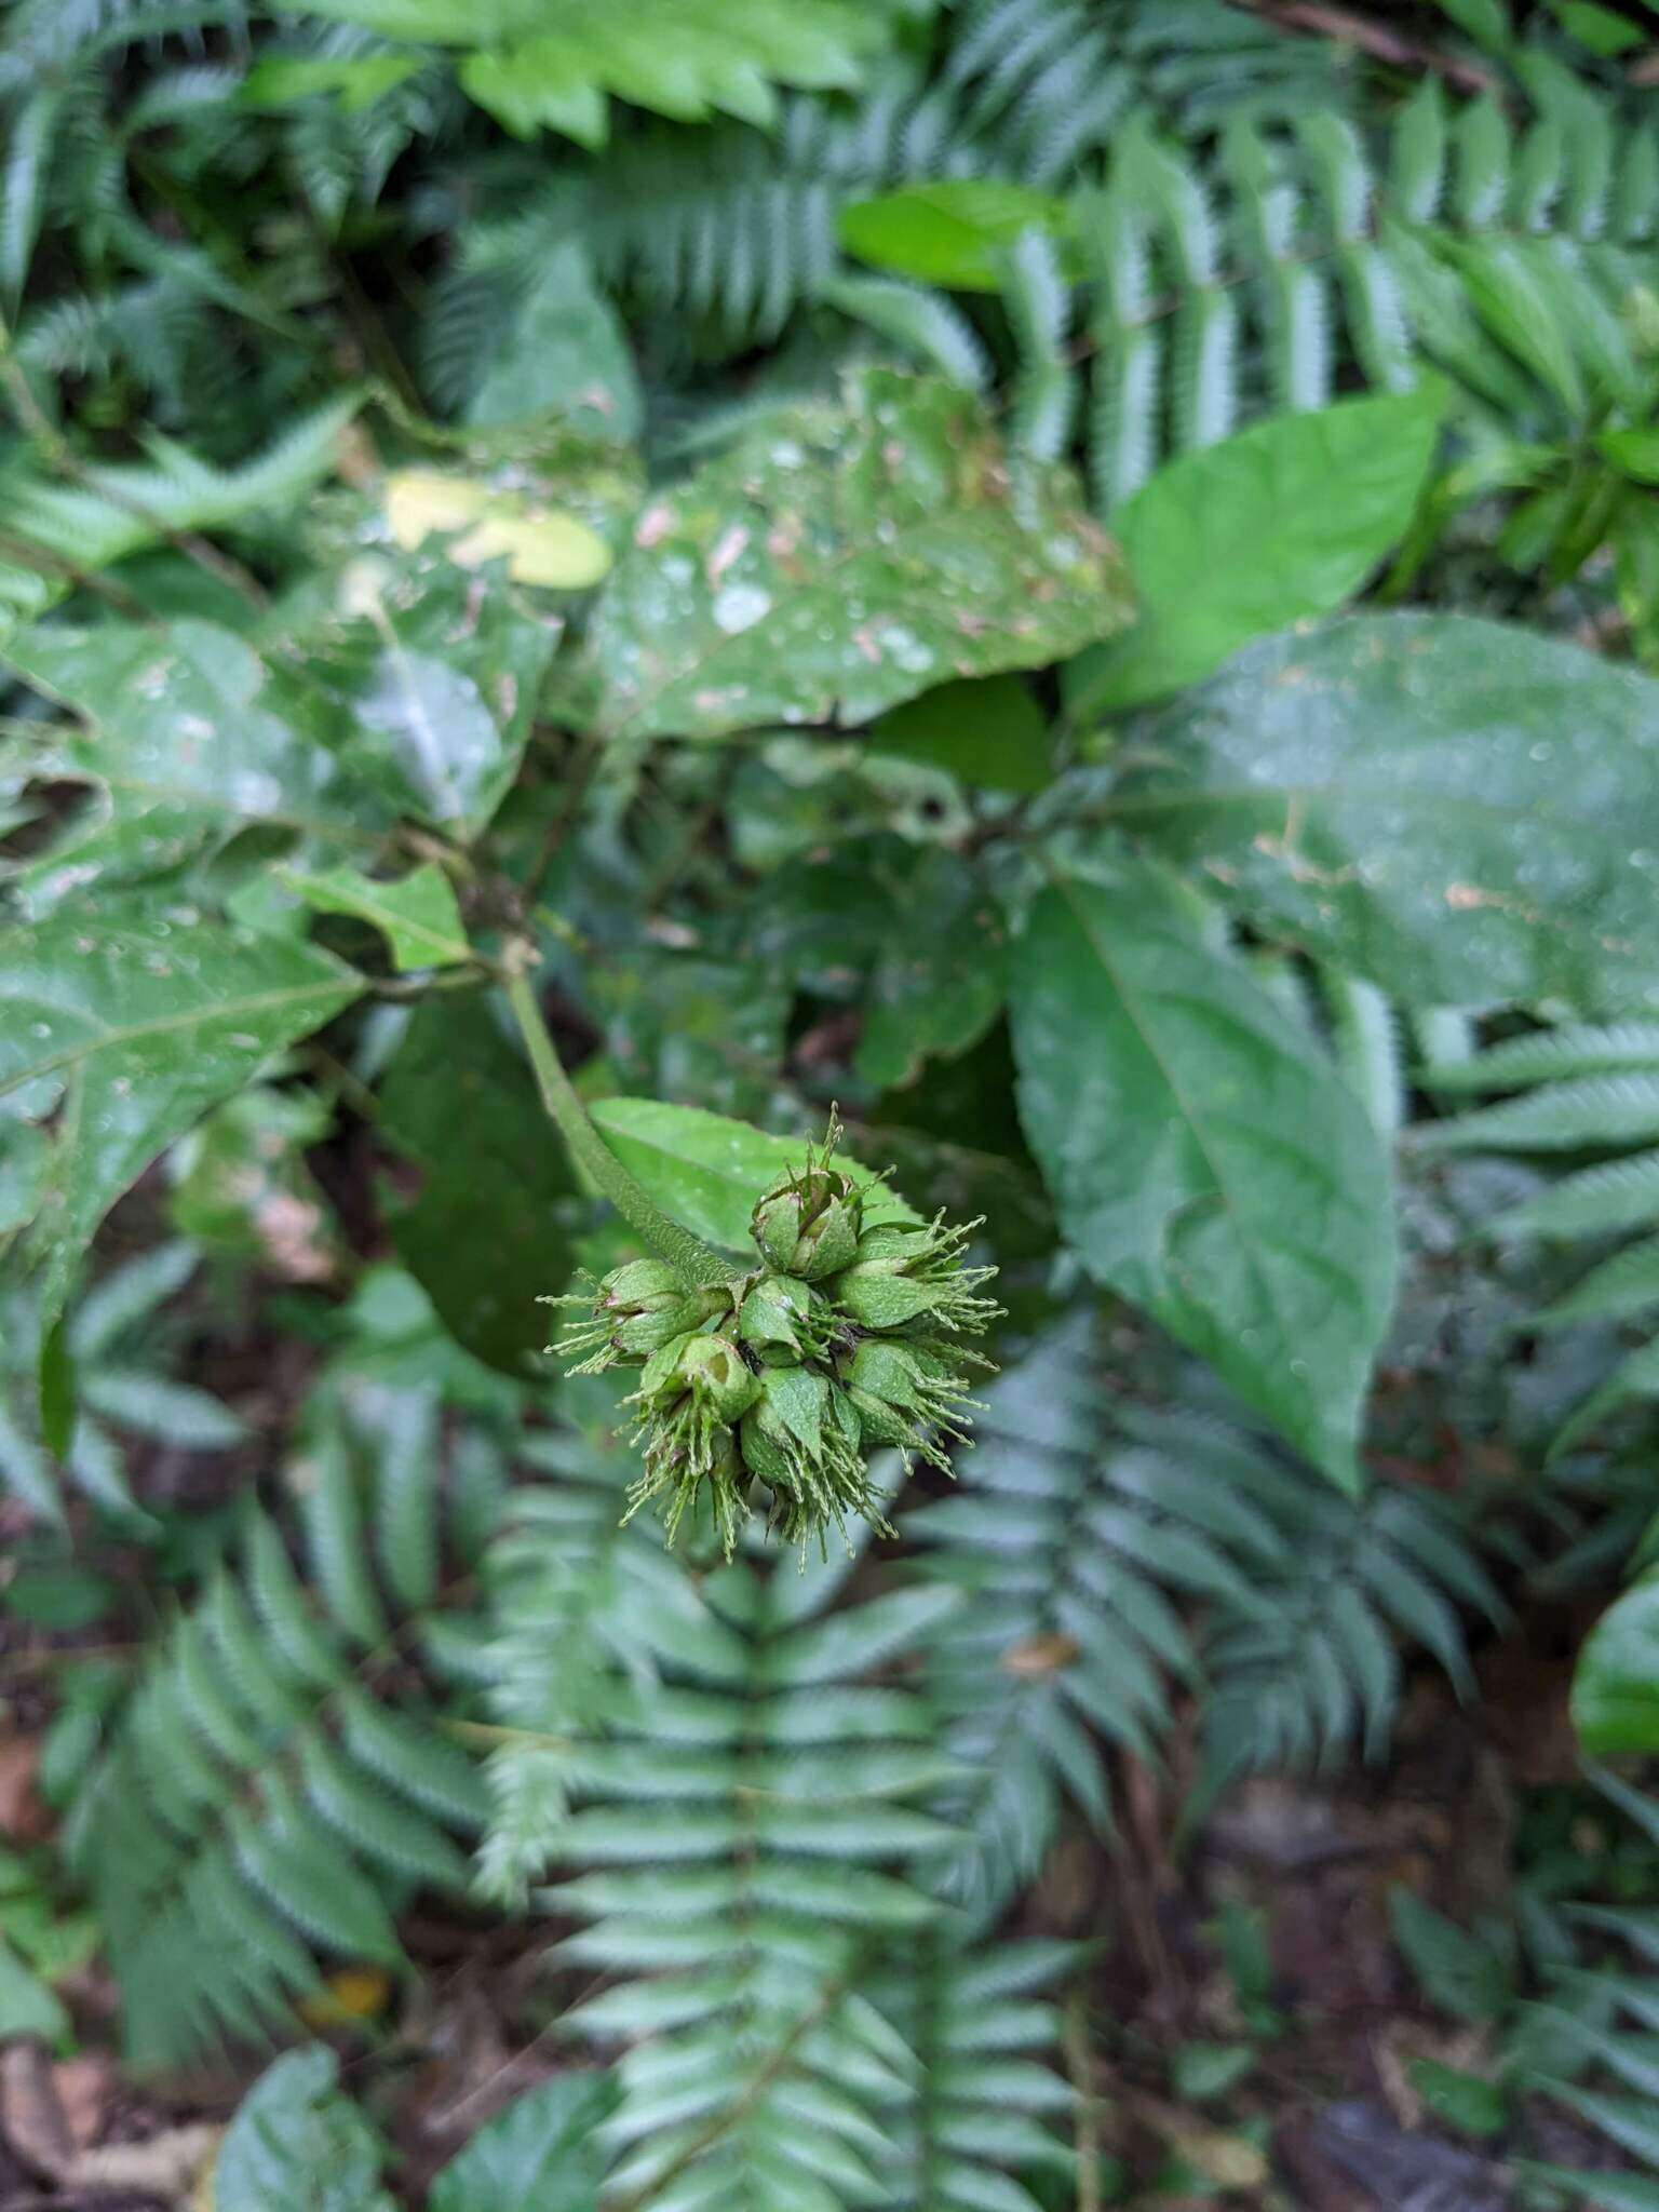
[[[1197,1677],[1172,1597],[1248,1608],[1239,1553],[1279,1551],[1230,1506],[1126,1438],[1091,1371],[1086,1321],[1044,1338],[987,1389],[960,1491],[905,1515],[927,1577],[969,1593],[929,1648],[945,1747],[967,1776],[947,1792],[960,1843],[940,1891],[993,1911],[1037,1871],[1066,1801],[1110,1825],[1095,1736],[1152,1756],[1168,1674]]]

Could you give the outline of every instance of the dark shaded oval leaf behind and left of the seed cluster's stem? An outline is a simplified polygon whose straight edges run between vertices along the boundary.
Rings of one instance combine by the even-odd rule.
[[[524,1376],[573,1270],[575,1179],[529,1066],[476,995],[429,998],[380,1091],[380,1133],[420,1168],[392,1241],[445,1327]]]

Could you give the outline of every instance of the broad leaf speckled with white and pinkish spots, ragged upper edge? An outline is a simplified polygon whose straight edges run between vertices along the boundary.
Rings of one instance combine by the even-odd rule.
[[[1126,619],[1066,471],[980,405],[869,369],[774,418],[635,524],[593,619],[606,737],[863,723],[951,677],[1037,668]]]

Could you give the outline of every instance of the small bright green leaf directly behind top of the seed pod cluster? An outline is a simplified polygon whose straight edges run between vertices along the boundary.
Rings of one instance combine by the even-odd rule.
[[[748,1121],[661,1099],[597,1099],[588,1110],[622,1166],[664,1212],[728,1252],[752,1250],[754,1201],[779,1175],[801,1166],[807,1141],[772,1137]],[[869,1168],[838,1157],[852,1177],[874,1183]],[[880,1186],[872,1194],[869,1219],[914,1221],[916,1214]]]

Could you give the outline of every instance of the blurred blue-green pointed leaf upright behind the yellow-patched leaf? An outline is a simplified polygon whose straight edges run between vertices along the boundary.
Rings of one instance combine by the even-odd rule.
[[[639,372],[617,310],[595,288],[588,257],[571,239],[546,254],[467,405],[467,420],[480,425],[546,414],[619,445],[639,436],[644,418]],[[606,551],[599,575],[608,566]]]

